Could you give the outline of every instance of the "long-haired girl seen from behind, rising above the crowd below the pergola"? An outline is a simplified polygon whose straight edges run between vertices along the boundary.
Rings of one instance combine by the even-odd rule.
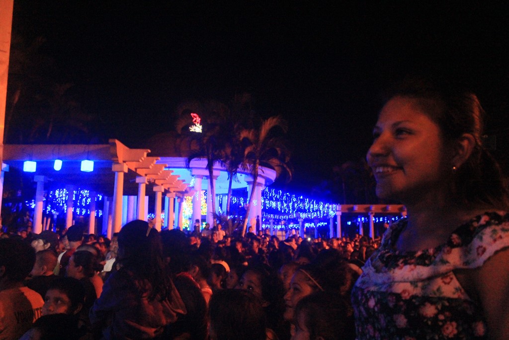
[[[106,339],[161,337],[186,309],[165,270],[159,233],[135,220],[121,229],[118,242],[121,268],[105,282],[90,321]]]

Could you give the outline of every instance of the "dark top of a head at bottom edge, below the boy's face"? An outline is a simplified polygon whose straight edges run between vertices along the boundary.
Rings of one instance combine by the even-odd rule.
[[[78,328],[76,318],[67,314],[51,314],[36,320],[31,339],[33,340],[79,340],[87,336]]]

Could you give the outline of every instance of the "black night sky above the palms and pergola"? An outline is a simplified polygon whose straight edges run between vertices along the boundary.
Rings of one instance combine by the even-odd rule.
[[[52,76],[73,82],[106,136],[131,147],[172,129],[184,99],[251,92],[260,114],[290,122],[295,187],[364,156],[380,91],[407,73],[471,84],[490,132],[507,140],[504,5],[204,3],[16,1],[13,30],[44,36]]]

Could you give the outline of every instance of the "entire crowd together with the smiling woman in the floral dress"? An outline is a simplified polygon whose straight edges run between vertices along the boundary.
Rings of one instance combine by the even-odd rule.
[[[367,163],[407,217],[381,239],[3,234],[0,339],[505,339],[509,193],[483,115],[450,84],[387,97]]]

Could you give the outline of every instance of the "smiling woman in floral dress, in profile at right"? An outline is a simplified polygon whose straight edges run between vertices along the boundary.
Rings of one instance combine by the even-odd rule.
[[[359,339],[509,334],[507,189],[482,145],[483,114],[474,94],[423,81],[382,108],[367,161],[377,195],[408,218],[354,287]]]

